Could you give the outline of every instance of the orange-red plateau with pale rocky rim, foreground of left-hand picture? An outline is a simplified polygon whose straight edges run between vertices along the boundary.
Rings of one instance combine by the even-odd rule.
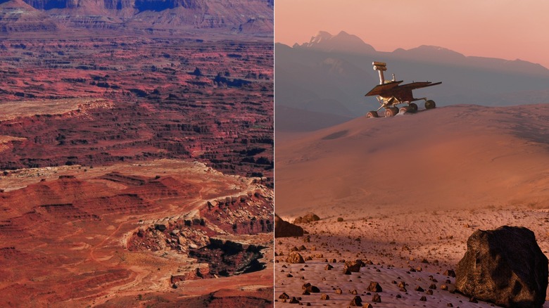
[[[18,305],[14,300],[22,297],[39,306],[99,304],[121,296],[139,304],[146,302],[139,294],[170,289],[170,297],[182,296],[172,277],[193,280],[193,271],[207,273],[211,267],[189,257],[189,249],[217,238],[236,246],[272,245],[269,236],[239,237],[224,230],[230,224],[248,235],[270,231],[248,228],[255,219],[270,222],[272,193],[258,179],[226,176],[199,162],[154,160],[27,169],[2,177],[2,183],[33,175],[34,183],[0,196],[5,304]],[[172,227],[178,228],[177,237]]]

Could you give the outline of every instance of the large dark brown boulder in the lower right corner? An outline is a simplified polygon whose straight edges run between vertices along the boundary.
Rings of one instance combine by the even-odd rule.
[[[542,307],[547,285],[548,259],[524,227],[475,231],[455,271],[457,290],[502,307]]]

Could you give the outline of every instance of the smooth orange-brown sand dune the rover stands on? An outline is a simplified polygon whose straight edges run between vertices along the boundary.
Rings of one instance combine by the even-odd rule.
[[[277,139],[277,212],[541,205],[548,119],[549,105],[455,105]]]

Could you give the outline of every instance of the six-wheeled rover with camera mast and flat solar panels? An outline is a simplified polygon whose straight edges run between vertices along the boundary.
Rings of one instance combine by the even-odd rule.
[[[412,103],[414,101],[425,101],[425,109],[435,108],[435,102],[424,98],[414,98],[412,94],[413,89],[425,88],[427,86],[436,86],[442,82],[412,82],[411,84],[402,84],[403,81],[396,81],[393,74],[392,80],[385,80],[383,72],[387,70],[387,64],[383,62],[374,62],[374,70],[379,72],[379,84],[374,86],[374,89],[370,90],[365,96],[377,96],[377,101],[381,104],[375,111],[367,113],[366,117],[379,117],[377,113],[381,108],[385,108],[385,117],[392,117],[393,115],[407,112],[417,111],[417,104]],[[407,104],[398,109],[396,105]]]

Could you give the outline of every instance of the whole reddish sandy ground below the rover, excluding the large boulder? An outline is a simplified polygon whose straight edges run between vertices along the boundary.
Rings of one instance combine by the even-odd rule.
[[[307,212],[321,218],[301,224],[303,238],[275,239],[277,307],[292,297],[348,307],[356,295],[374,307],[491,307],[454,293],[448,270],[474,231],[502,225],[531,229],[548,254],[548,118],[548,105],[453,105],[277,132],[275,212],[290,222]],[[295,248],[304,264],[286,262]],[[343,274],[341,261],[355,259],[366,267]],[[367,290],[372,281],[381,302]],[[320,293],[303,295],[304,283]]]

